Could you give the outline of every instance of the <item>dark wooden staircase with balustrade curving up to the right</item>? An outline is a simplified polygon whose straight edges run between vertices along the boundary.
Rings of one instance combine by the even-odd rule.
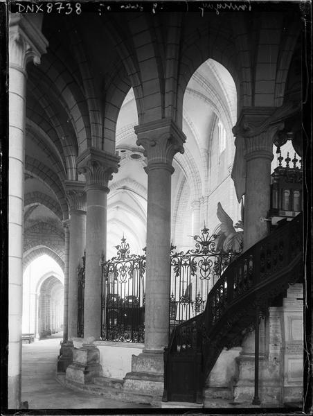
[[[163,401],[203,403],[203,389],[224,347],[240,346],[256,308],[303,276],[303,216],[298,214],[238,257],[208,294],[204,313],[172,331],[164,352]]]

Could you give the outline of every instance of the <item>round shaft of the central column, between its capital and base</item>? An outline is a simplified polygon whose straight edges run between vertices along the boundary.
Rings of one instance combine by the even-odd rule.
[[[156,166],[147,168],[145,349],[160,351],[168,345],[172,168]]]

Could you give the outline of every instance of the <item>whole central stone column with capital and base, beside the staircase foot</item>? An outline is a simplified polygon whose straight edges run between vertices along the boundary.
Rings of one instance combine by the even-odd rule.
[[[132,357],[125,388],[163,391],[163,351],[168,345],[170,306],[170,201],[172,159],[186,137],[170,119],[138,125],[137,144],[147,156],[147,270],[145,349]],[[138,377],[138,374],[142,376]]]

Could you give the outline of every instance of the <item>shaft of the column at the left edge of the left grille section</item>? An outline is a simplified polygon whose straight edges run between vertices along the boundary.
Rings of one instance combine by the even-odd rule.
[[[86,278],[84,286],[84,338],[101,336],[101,268],[102,251],[107,246],[106,187],[90,185],[87,193]]]

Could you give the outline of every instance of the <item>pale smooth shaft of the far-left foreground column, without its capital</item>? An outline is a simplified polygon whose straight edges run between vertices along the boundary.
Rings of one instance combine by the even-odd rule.
[[[26,73],[9,70],[9,352],[8,408],[21,401],[21,319],[23,299],[24,148]]]

